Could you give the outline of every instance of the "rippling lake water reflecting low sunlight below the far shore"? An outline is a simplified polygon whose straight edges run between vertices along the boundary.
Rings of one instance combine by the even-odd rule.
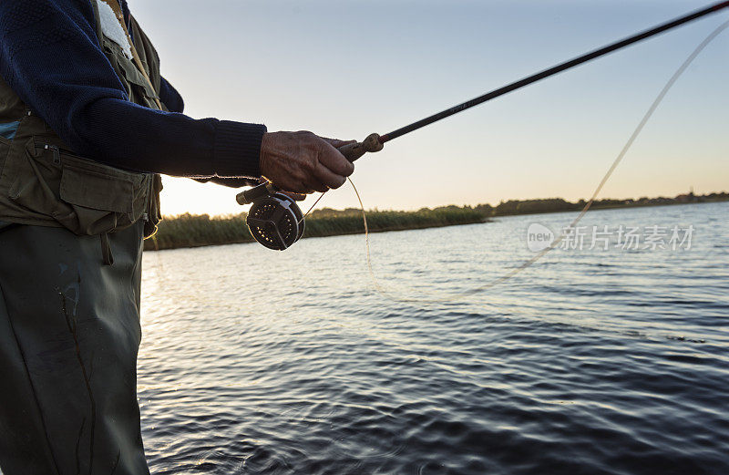
[[[530,224],[573,217],[374,234],[375,274],[402,298],[472,289],[534,255]],[[729,473],[729,203],[580,224],[582,250],[439,304],[376,293],[363,235],[146,253],[152,472]]]

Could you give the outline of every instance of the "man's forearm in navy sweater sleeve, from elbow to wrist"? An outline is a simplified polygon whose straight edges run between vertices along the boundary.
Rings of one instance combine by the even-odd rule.
[[[190,119],[109,98],[73,122],[69,145],[112,166],[188,177],[261,175],[262,125]]]

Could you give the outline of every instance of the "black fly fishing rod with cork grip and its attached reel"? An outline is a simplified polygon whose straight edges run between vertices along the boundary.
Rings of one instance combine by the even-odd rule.
[[[459,112],[463,112],[468,108],[476,107],[484,102],[488,102],[489,100],[504,96],[509,92],[524,88],[542,79],[546,79],[547,77],[551,77],[571,69],[572,67],[580,66],[592,59],[603,57],[614,51],[618,51],[644,39],[672,30],[673,28],[682,26],[686,23],[692,22],[693,20],[702,18],[703,16],[711,15],[727,7],[729,7],[729,1],[707,6],[701,10],[683,15],[679,18],[663,23],[662,25],[655,26],[636,35],[611,43],[610,45],[595,49],[590,53],[580,57],[575,57],[560,63],[557,66],[549,67],[548,69],[539,71],[529,77],[519,79],[518,81],[512,82],[502,88],[494,89],[482,96],[472,98],[466,102],[458,104],[457,106],[442,110],[441,112],[426,117],[425,119],[417,120],[412,124],[406,125],[400,129],[395,129],[385,135],[373,133],[361,142],[347,144],[337,150],[344,155],[344,158],[354,162],[354,160],[361,158],[367,152],[383,150],[385,143],[390,140],[397,139],[398,137],[402,137],[417,129],[422,129],[439,120],[446,119]],[[269,249],[282,251],[290,247],[293,243],[296,243],[302,237],[304,221],[301,209],[298,204],[296,204],[296,201],[293,201],[292,198],[283,194],[271,182],[263,183],[250,190],[239,193],[236,196],[236,201],[238,201],[239,204],[252,203],[251,210],[246,218],[246,223],[251,230],[253,238],[258,243],[262,243]]]

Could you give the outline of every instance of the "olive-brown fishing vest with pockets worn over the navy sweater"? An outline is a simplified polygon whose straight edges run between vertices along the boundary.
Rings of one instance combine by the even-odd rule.
[[[159,57],[154,46],[132,18],[129,33],[134,37],[142,72],[125,54],[129,45],[119,45],[118,37],[115,41],[104,33],[99,8],[107,6],[102,5],[104,0],[98,1],[90,0],[98,42],[127,89],[129,100],[148,108],[164,108],[159,102]],[[0,124],[13,122],[19,122],[15,137],[0,136],[0,221],[101,235],[102,247],[108,243],[108,232],[139,220],[145,221],[145,238],[157,231],[162,189],[158,174],[120,170],[79,157],[0,77]]]

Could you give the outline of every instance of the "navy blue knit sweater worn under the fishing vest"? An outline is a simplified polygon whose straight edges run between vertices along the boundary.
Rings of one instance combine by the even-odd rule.
[[[264,126],[190,119],[165,79],[160,98],[171,112],[128,101],[98,45],[91,1],[0,0],[0,75],[26,105],[79,155],[119,168],[261,175]],[[126,0],[121,4],[128,17]]]

